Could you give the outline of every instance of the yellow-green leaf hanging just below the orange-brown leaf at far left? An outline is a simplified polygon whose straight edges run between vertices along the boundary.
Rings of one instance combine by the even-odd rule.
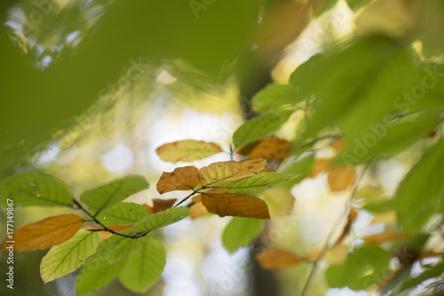
[[[53,246],[40,264],[40,275],[44,283],[80,268],[96,252],[99,238],[99,232],[80,230],[65,243]]]

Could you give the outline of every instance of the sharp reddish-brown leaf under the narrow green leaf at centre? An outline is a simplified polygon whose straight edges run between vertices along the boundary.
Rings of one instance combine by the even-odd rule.
[[[202,193],[202,204],[208,212],[220,217],[238,216],[270,219],[266,202],[260,198],[237,193]]]

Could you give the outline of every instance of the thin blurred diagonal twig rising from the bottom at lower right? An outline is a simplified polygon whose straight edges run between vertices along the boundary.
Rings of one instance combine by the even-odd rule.
[[[341,212],[339,217],[337,217],[337,220],[335,221],[335,224],[333,225],[333,228],[331,228],[331,230],[329,232],[329,236],[327,236],[325,244],[322,247],[321,254],[314,261],[313,266],[312,266],[312,270],[310,270],[310,274],[308,275],[308,278],[307,278],[307,280],[305,282],[304,288],[302,289],[301,296],[304,296],[305,293],[308,292],[308,288],[310,287],[310,284],[311,284],[311,282],[313,280],[314,273],[316,272],[316,269],[318,268],[319,261],[324,257],[325,253],[327,251],[329,251],[329,248],[331,246],[331,244],[330,244],[331,238],[336,233],[337,227],[339,226],[341,221],[344,219],[345,215],[348,212],[350,212],[350,208],[351,208],[351,206],[353,204],[354,196],[356,196],[356,191],[358,190],[358,185],[359,185],[359,183],[360,183],[360,181],[362,179],[362,176],[367,171],[367,168],[369,167],[370,162],[371,162],[371,160],[369,160],[369,162],[367,164],[365,164],[364,168],[362,169],[360,176],[358,177],[358,179],[356,180],[356,183],[354,184],[352,194],[350,195],[350,197],[347,200],[347,203],[345,204],[344,212]]]

